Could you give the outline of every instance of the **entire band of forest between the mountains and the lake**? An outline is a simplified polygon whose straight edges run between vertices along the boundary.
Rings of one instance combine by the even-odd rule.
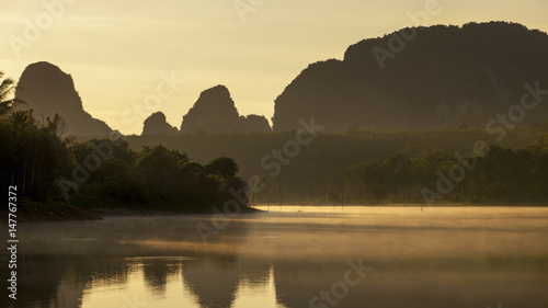
[[[58,116],[43,123],[32,111],[4,113],[2,185],[18,185],[22,196],[45,204],[189,212],[233,198],[231,189],[247,187],[238,175],[255,179],[260,186],[251,190],[253,203],[548,199],[548,123],[516,127],[502,142],[464,126],[318,134],[287,166],[281,164],[277,174],[261,161],[294,139],[292,133],[78,140],[59,137],[61,129]],[[475,140],[488,140],[484,156],[467,156]]]

